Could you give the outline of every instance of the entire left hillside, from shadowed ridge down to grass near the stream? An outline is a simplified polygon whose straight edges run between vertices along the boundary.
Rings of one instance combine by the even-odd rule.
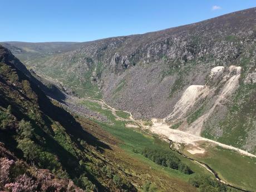
[[[0,46],[0,190],[196,191],[189,178],[209,175],[168,150],[166,142],[122,130],[138,137],[131,145],[141,149],[131,154],[119,147],[130,147],[127,141],[109,134],[96,121],[66,111],[45,95],[42,86]],[[158,151],[168,150],[175,160],[169,162],[177,167],[164,168],[142,157],[140,151],[146,144]],[[208,180],[205,184],[213,182],[216,189],[228,190]]]

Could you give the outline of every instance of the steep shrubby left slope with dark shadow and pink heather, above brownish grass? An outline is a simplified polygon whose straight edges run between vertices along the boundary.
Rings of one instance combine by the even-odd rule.
[[[115,166],[119,183],[106,178],[101,152],[110,147],[86,131],[97,125],[82,126],[16,66],[24,67],[0,46],[1,190],[136,191]]]

